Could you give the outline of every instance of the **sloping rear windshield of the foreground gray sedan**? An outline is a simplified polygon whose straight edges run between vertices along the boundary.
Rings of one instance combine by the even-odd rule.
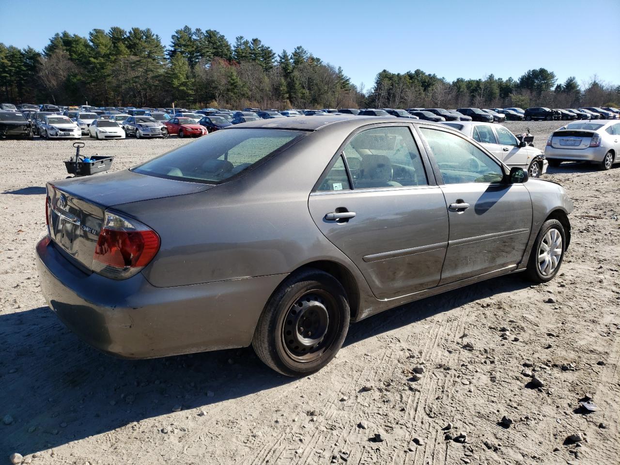
[[[301,138],[304,131],[232,129],[181,146],[135,167],[136,173],[219,184]]]

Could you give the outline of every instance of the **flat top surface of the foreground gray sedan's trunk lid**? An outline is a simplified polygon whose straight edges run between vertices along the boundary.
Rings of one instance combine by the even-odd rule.
[[[138,174],[128,169],[96,176],[71,178],[51,184],[63,192],[104,207],[203,192],[214,187],[211,184]]]

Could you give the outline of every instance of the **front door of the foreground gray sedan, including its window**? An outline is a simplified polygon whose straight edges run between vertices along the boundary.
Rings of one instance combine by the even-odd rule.
[[[420,127],[441,173],[449,239],[440,285],[521,262],[532,223],[529,192],[466,138]]]

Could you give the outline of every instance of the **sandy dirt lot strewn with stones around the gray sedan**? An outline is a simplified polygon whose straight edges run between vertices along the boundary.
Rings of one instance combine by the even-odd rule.
[[[506,126],[530,126],[543,148],[559,124]],[[87,140],[85,153],[118,170],[184,143]],[[575,203],[556,280],[497,278],[371,317],[327,368],[286,379],[251,348],[116,360],[57,321],[34,246],[45,182],[73,150],[0,141],[0,464],[620,463],[618,166],[545,176]],[[596,412],[579,409],[585,394]]]

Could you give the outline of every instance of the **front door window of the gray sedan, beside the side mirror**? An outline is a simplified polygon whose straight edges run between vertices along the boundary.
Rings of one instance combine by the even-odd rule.
[[[502,167],[482,150],[457,135],[420,128],[435,157],[444,184],[500,182]]]

